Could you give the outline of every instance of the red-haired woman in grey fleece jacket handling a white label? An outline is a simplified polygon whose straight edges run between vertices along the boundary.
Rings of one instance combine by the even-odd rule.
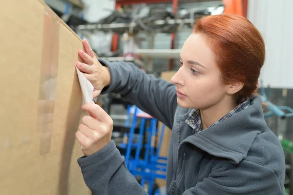
[[[241,16],[201,18],[183,45],[181,68],[169,83],[125,62],[95,59],[84,40],[79,70],[95,96],[119,93],[172,129],[168,195],[284,195],[285,159],[253,95],[265,44]],[[112,120],[97,105],[82,107],[76,137],[85,183],[95,195],[146,194],[111,141]]]

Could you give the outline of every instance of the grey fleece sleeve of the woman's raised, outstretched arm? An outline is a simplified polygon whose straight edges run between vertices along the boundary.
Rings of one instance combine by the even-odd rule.
[[[99,61],[109,68],[111,75],[110,85],[102,94],[120,94],[123,100],[137,105],[167,127],[172,127],[177,107],[175,85],[148,75],[131,63]]]

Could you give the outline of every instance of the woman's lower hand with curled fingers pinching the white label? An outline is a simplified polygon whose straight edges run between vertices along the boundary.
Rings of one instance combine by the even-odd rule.
[[[84,116],[83,123],[75,136],[81,144],[85,156],[90,156],[105,147],[112,137],[113,120],[94,102],[86,103],[82,109],[90,116]]]

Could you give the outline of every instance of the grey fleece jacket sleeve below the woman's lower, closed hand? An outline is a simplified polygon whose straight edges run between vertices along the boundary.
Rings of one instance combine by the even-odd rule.
[[[79,158],[78,163],[94,195],[147,195],[127,170],[113,140],[99,152]]]

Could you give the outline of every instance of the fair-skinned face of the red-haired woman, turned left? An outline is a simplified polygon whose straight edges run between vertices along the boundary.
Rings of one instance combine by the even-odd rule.
[[[227,95],[228,86],[220,82],[221,72],[206,39],[201,34],[188,37],[180,54],[181,68],[171,78],[183,108],[209,108]]]

